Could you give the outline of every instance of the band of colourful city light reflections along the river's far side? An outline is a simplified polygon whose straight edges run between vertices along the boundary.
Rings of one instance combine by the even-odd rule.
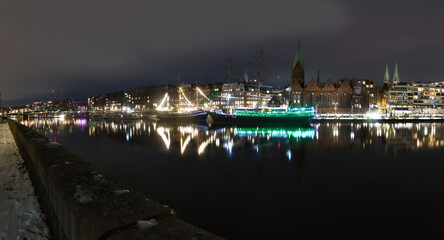
[[[396,149],[432,149],[444,146],[442,123],[327,123],[310,128],[243,128],[227,127],[209,129],[202,125],[161,125],[156,122],[138,120],[122,122],[76,120],[24,120],[22,123],[32,129],[51,135],[75,131],[87,132],[89,136],[107,136],[132,144],[162,142],[169,150],[174,145],[180,154],[193,151],[202,155],[208,149],[225,149],[230,156],[233,148],[250,147],[259,154],[266,147],[280,150],[285,148],[289,159],[294,154],[289,151],[293,145],[304,142],[311,149],[373,148],[381,144]],[[155,134],[152,134],[155,133]],[[152,141],[150,141],[152,140]],[[286,141],[282,141],[286,140]],[[192,146],[192,147],[190,147]]]

